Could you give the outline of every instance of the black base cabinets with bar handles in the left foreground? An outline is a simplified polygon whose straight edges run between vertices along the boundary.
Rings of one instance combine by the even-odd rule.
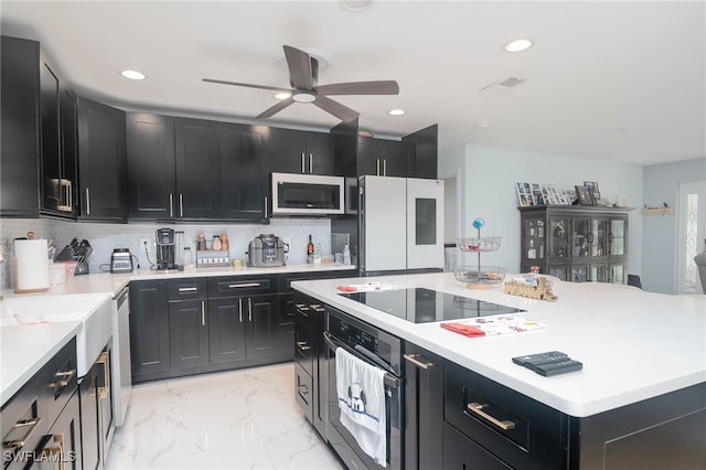
[[[75,339],[2,405],[0,426],[4,469],[83,468]]]

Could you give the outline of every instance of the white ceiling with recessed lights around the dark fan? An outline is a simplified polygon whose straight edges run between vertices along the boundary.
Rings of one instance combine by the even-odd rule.
[[[397,96],[340,96],[360,127],[439,125],[440,152],[478,145],[639,164],[706,157],[704,1],[6,1],[1,31],[41,41],[79,95],[125,109],[250,120],[288,87],[282,44],[333,61],[319,84],[396,79]],[[504,52],[527,36],[534,47]],[[122,78],[126,68],[147,74]],[[523,82],[512,88],[498,83]],[[481,92],[488,85],[495,84]],[[391,108],[407,110],[402,117]],[[295,104],[264,122],[331,128]]]

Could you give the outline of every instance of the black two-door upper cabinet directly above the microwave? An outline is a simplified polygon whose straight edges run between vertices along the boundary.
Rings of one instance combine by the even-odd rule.
[[[335,174],[334,143],[330,133],[269,130],[268,173]]]

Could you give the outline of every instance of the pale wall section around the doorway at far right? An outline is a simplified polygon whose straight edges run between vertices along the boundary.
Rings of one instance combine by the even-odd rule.
[[[665,202],[675,211],[672,214],[643,216],[643,289],[662,293],[677,292],[680,183],[702,180],[706,180],[706,158],[644,167],[644,203],[662,206]]]

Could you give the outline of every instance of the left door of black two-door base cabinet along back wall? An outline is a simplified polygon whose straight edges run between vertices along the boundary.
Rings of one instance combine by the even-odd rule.
[[[208,348],[212,364],[243,361],[245,319],[243,297],[208,300]]]

